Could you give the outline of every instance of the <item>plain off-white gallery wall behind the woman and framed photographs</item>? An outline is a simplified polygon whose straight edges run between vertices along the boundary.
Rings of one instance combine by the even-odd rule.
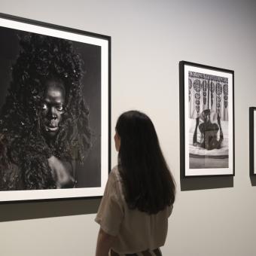
[[[253,1],[0,0],[0,11],[111,35],[112,129],[123,111],[148,113],[177,181],[163,255],[255,254],[256,182],[248,169],[248,107],[256,106]],[[180,180],[180,60],[235,71],[234,178]],[[112,145],[113,166],[116,157]],[[99,200],[0,205],[0,255],[93,255],[98,206]]]

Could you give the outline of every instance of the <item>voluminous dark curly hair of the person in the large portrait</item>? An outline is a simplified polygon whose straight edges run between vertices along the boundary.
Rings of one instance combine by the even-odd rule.
[[[47,159],[83,161],[91,146],[89,110],[82,95],[81,57],[72,42],[47,35],[20,35],[20,55],[12,67],[12,81],[0,113],[0,134],[8,141],[8,158],[21,169],[19,178],[10,175],[3,185],[15,189],[55,187]],[[40,132],[41,101],[45,81],[53,79],[66,90],[66,111],[53,145]],[[17,181],[20,179],[20,181]]]

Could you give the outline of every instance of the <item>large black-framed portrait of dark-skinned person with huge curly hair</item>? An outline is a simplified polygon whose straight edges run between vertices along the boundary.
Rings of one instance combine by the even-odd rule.
[[[101,197],[111,38],[0,14],[0,202]]]

